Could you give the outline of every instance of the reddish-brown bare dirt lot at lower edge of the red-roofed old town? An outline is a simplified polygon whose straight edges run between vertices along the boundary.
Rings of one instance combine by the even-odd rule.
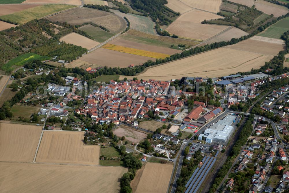
[[[117,129],[113,130],[113,134],[115,134],[118,137],[125,136],[125,139],[133,143],[139,143],[140,141],[146,139],[147,137],[146,133],[134,130],[125,125],[121,125]]]

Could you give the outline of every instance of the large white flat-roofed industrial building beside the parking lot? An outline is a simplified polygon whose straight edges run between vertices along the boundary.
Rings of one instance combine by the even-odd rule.
[[[226,143],[234,132],[234,126],[231,126],[237,116],[227,115],[224,119],[219,120],[216,124],[206,129],[203,134],[199,135],[199,140],[205,138],[206,143]]]

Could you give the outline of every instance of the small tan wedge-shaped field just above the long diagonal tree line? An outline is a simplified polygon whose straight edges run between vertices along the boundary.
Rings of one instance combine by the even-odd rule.
[[[225,31],[212,39],[207,40],[207,43],[215,43],[220,41],[230,41],[232,38],[240,38],[242,36],[248,35],[247,32],[240,30],[239,28],[232,27],[228,31]]]

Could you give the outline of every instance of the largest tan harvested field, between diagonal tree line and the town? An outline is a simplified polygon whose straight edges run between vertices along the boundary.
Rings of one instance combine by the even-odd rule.
[[[264,62],[272,59],[274,55],[283,49],[284,44],[282,41],[253,37],[225,48],[210,50],[147,68],[143,73],[135,77],[144,80],[171,80],[184,76],[220,77],[233,72],[247,72],[252,68],[260,68],[264,65]],[[232,61],[234,62],[232,63]],[[204,66],[206,68],[203,68]],[[132,79],[132,77],[128,76],[120,76],[120,79],[124,77]]]

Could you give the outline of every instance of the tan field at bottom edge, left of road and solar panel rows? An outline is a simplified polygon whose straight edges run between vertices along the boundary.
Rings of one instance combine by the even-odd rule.
[[[173,164],[161,164],[161,163],[146,163],[140,178],[136,176],[135,179],[140,179],[136,190],[133,192],[145,193],[145,192],[158,192],[166,193],[170,182],[171,174],[173,171]],[[135,183],[132,181],[131,183]]]

